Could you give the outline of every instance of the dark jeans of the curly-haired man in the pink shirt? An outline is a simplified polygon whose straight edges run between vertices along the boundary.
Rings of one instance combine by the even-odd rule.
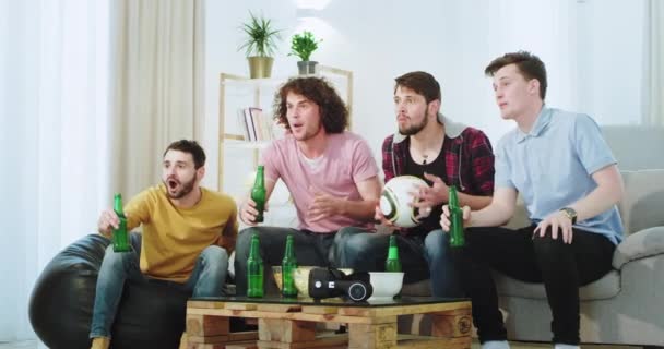
[[[251,248],[251,237],[258,234],[260,240],[261,257],[264,268],[281,265],[286,248],[286,237],[293,234],[295,256],[298,265],[333,266],[335,232],[315,233],[306,230],[277,227],[251,227],[240,231],[235,244],[235,290],[237,296],[247,296],[247,258]],[[272,282],[268,276],[272,273],[265,270],[263,285]]]

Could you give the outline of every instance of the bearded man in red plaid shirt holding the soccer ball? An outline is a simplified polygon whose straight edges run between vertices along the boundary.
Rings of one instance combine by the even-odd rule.
[[[494,154],[479,130],[452,122],[440,113],[440,85],[431,74],[411,72],[396,77],[394,110],[399,132],[382,145],[386,182],[396,176],[424,179],[428,186],[415,190],[422,224],[399,229],[400,260],[405,282],[431,278],[436,297],[462,296],[447,253],[448,236],[440,228],[449,185],[459,190],[460,205],[479,209],[491,201]],[[376,218],[391,226],[376,209]],[[391,226],[392,228],[395,228]],[[355,270],[382,270],[389,236],[348,227],[339,231],[337,261]]]

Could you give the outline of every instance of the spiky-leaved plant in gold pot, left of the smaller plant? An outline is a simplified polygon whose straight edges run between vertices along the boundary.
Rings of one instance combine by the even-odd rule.
[[[272,55],[276,49],[276,40],[281,39],[280,29],[275,29],[271,20],[262,14],[260,17],[249,12],[249,22],[242,23],[240,29],[246,34],[246,40],[238,50],[245,50],[249,61],[249,76],[270,77],[272,73]]]

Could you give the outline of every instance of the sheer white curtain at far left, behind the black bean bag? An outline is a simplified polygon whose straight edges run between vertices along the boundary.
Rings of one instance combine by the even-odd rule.
[[[111,204],[108,5],[0,1],[0,341],[35,337],[39,272]]]

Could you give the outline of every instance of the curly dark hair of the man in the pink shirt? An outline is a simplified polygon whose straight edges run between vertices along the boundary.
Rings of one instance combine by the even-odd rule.
[[[274,119],[290,129],[286,118],[286,97],[288,93],[305,96],[320,108],[323,128],[327,133],[342,133],[348,127],[348,108],[334,87],[322,77],[293,77],[274,95]]]

